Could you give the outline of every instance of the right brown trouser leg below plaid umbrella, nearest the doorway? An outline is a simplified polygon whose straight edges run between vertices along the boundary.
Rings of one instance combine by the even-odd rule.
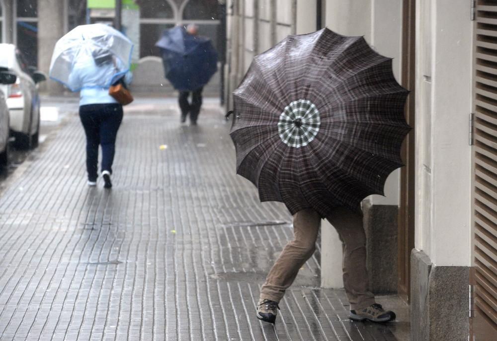
[[[343,286],[350,309],[362,309],[375,303],[369,291],[369,277],[366,268],[366,234],[362,213],[345,207],[336,207],[326,217],[340,235],[343,247]]]

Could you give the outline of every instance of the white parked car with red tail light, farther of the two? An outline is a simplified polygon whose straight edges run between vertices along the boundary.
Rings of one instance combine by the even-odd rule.
[[[38,145],[40,131],[40,97],[37,84],[46,79],[25,62],[22,54],[12,44],[0,44],[0,67],[7,68],[17,76],[15,83],[0,84],[7,97],[10,112],[10,133],[15,145],[28,149]]]

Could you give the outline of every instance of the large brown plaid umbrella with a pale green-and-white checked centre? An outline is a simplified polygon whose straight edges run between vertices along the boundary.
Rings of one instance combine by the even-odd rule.
[[[292,214],[359,209],[403,165],[408,93],[392,59],[362,37],[288,36],[253,59],[233,93],[237,173]]]

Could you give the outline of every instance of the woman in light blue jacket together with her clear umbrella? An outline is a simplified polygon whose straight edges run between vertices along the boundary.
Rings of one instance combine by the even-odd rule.
[[[129,84],[133,44],[121,32],[104,24],[81,25],[56,44],[50,77],[80,92],[80,118],[86,135],[87,184],[96,186],[98,147],[102,149],[104,188],[112,187],[112,163],[123,109],[109,88]]]

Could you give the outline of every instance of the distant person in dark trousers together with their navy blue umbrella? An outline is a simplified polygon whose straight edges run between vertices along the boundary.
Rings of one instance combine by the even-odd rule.
[[[197,124],[202,90],[217,71],[217,52],[210,39],[198,35],[198,26],[176,26],[166,30],[156,43],[161,49],[166,78],[179,91],[180,122]],[[188,97],[192,96],[191,102]]]

